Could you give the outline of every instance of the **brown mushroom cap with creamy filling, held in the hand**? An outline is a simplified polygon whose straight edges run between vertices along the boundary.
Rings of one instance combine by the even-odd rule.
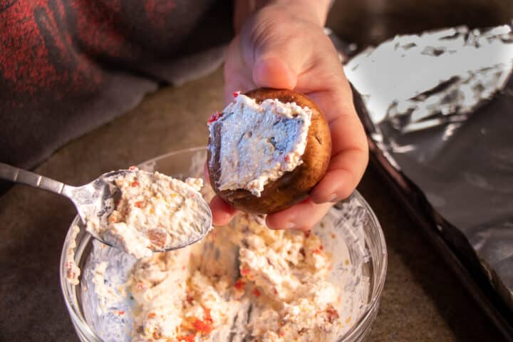
[[[209,118],[207,167],[214,191],[244,212],[270,214],[305,199],[331,155],[326,118],[306,95],[259,88],[234,93]]]

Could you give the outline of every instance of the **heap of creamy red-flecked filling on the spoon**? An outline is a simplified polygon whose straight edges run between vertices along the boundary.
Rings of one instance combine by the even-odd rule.
[[[159,172],[133,169],[114,182],[120,201],[107,225],[88,219],[88,232],[137,258],[187,244],[202,235],[206,215],[199,205],[202,180],[182,182]]]

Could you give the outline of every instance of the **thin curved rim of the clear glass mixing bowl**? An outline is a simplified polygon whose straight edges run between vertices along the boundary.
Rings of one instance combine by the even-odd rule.
[[[172,157],[174,155],[180,155],[184,153],[193,153],[193,152],[202,152],[206,150],[206,147],[190,147],[183,150],[176,150],[172,152],[168,152],[164,155],[157,156],[150,160],[146,160],[145,162],[141,162],[139,165],[146,165],[150,163],[157,162],[158,160],[165,159],[167,157]],[[361,341],[358,338],[363,337],[363,334],[368,333],[368,328],[370,327],[373,319],[375,318],[375,314],[377,313],[379,307],[379,301],[381,298],[381,294],[383,292],[383,286],[385,285],[386,271],[387,271],[387,263],[388,263],[388,254],[385,243],[385,236],[383,234],[383,229],[381,229],[378,218],[375,216],[373,210],[368,205],[363,196],[355,190],[353,192],[353,196],[357,197],[359,202],[363,204],[366,212],[368,213],[368,217],[371,220],[371,227],[375,229],[375,233],[378,236],[378,239],[375,240],[377,244],[377,249],[381,259],[373,260],[373,267],[378,266],[377,278],[373,281],[372,297],[371,301],[366,304],[366,310],[361,314],[358,321],[353,325],[353,327],[346,332],[346,334],[339,340],[340,342],[346,341]],[[102,342],[102,340],[96,335],[93,329],[88,326],[86,318],[83,316],[81,308],[76,305],[76,301],[72,301],[71,298],[76,298],[76,287],[71,285],[66,280],[66,254],[68,251],[68,244],[71,238],[71,227],[73,225],[78,224],[80,222],[80,217],[78,215],[73,219],[73,222],[70,225],[70,229],[68,229],[68,233],[66,234],[66,238],[64,240],[63,249],[61,252],[61,261],[59,267],[60,280],[61,280],[61,290],[64,296],[64,301],[66,303],[66,308],[71,317],[71,321],[73,323],[74,328],[76,329],[76,333],[78,337],[81,338],[81,341],[98,341]],[[90,235],[84,238],[84,242],[81,245],[87,245],[88,241],[92,239]],[[75,254],[78,253],[79,244],[77,243]],[[376,262],[379,261],[379,262]],[[76,260],[77,264],[79,260]]]

